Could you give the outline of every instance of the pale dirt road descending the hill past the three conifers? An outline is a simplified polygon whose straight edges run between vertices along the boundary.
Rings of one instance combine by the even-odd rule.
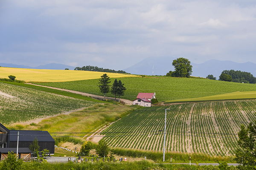
[[[32,83],[26,83],[26,84],[35,85],[35,84],[32,84]],[[74,93],[74,94],[81,94],[81,95],[87,96],[87,97],[90,96],[93,99],[97,99],[97,100],[104,99],[104,96],[88,94],[88,93],[84,93],[84,92],[80,92],[80,91],[67,90],[67,89],[63,89],[63,88],[54,88],[54,87],[49,87],[49,86],[44,86],[44,85],[37,85],[37,86],[41,86],[41,87],[45,87],[45,88],[52,88],[52,89],[60,90],[60,91],[67,91],[67,92]],[[113,97],[105,97],[105,99],[114,100],[115,98],[113,98]],[[120,99],[120,101],[125,102],[126,105],[132,105],[133,104],[133,102],[131,100],[127,100],[127,99]]]

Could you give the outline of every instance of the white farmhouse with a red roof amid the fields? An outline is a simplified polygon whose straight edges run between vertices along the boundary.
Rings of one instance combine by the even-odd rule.
[[[155,93],[139,93],[137,99],[133,100],[133,105],[140,105],[145,107],[151,106],[151,99],[156,98]]]

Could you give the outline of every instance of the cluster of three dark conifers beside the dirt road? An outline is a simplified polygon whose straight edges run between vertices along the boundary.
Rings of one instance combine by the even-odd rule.
[[[113,85],[109,85],[111,83],[110,77],[108,77],[107,74],[103,74],[101,78],[99,79],[99,90],[101,91],[102,94],[104,94],[104,99],[105,99],[105,94],[108,92],[111,92],[111,94],[115,95],[115,100],[116,100],[116,95],[119,96],[119,102],[120,102],[120,96],[123,96],[125,93],[125,86],[121,82],[121,80],[113,82]]]

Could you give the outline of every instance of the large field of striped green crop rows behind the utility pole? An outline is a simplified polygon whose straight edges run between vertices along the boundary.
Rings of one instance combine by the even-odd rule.
[[[240,125],[256,120],[256,100],[142,108],[108,127],[105,140],[113,147],[163,150],[167,108],[167,151],[233,155]]]

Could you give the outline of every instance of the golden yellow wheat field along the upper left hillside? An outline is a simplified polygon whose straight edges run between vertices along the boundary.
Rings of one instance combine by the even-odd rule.
[[[95,71],[78,71],[78,70],[43,70],[28,68],[7,68],[0,67],[0,78],[7,78],[13,75],[18,80],[25,82],[67,82],[84,79],[98,79],[105,74]],[[111,78],[118,77],[136,77],[135,75],[107,73]]]

